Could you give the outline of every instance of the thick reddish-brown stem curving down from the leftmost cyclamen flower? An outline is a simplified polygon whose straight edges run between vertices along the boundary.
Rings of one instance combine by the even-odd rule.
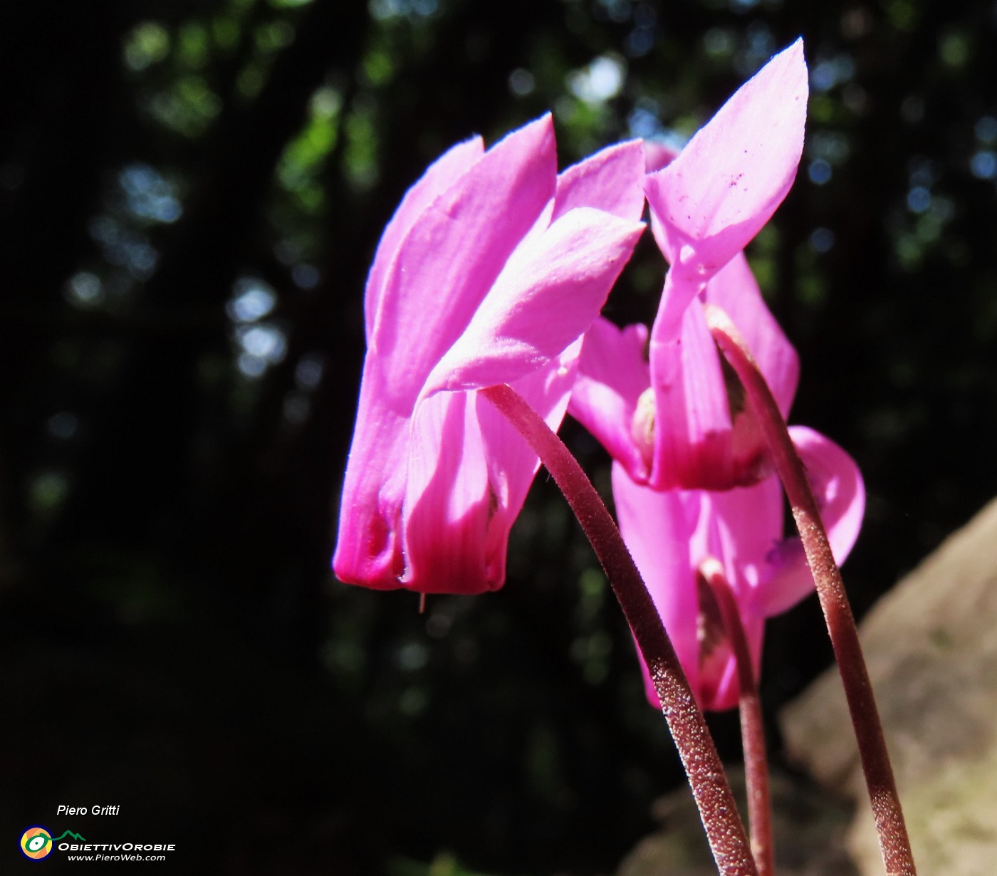
[[[720,873],[723,876],[758,876],[748,836],[706,720],[609,511],[561,439],[512,389],[500,385],[480,392],[540,457],[564,493],[605,569],[654,680],[661,711],[689,776]]]

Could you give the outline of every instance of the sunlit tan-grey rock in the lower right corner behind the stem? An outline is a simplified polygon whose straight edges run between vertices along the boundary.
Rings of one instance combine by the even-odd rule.
[[[845,574],[845,583],[847,576]],[[921,874],[997,873],[997,500],[950,536],[861,625]],[[848,847],[881,874],[836,670],[782,715],[790,756],[856,802]]]

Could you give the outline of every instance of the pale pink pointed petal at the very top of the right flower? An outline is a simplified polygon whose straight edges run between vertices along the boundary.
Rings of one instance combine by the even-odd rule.
[[[705,282],[769,220],[790,190],[807,117],[803,42],[743,85],[645,182],[672,270]]]

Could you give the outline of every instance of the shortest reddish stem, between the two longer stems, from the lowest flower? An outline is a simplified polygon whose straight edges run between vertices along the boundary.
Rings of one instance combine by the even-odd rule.
[[[709,585],[724,622],[724,631],[734,652],[738,668],[738,709],[741,717],[741,743],[745,757],[745,783],[748,788],[748,826],[751,848],[755,854],[758,876],[776,872],[772,842],[772,796],[769,791],[769,759],[765,750],[765,725],[762,722],[762,699],[759,697],[752,668],[748,637],[741,623],[731,585],[724,568],[716,560],[704,562],[698,571]]]

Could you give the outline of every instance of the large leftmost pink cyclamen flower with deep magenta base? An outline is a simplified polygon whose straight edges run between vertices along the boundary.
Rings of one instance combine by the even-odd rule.
[[[556,430],[579,338],[643,230],[643,151],[557,175],[549,115],[454,146],[405,195],[367,281],[367,357],[333,568],[376,588],[504,580],[536,455],[476,390],[510,384]]]

